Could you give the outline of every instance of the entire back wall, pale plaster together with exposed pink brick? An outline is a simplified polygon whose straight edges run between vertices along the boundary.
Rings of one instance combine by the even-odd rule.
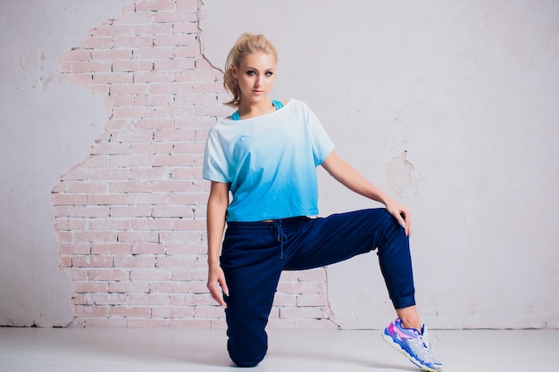
[[[219,69],[252,30],[280,53],[273,98],[309,103],[338,153],[412,207],[430,327],[559,327],[555,2],[0,9],[2,325],[224,327],[200,161],[229,113]],[[377,206],[319,177],[321,214]],[[271,326],[392,317],[366,255],[282,277]]]

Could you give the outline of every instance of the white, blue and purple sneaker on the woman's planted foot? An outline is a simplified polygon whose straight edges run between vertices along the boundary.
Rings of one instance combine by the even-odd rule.
[[[402,319],[397,318],[385,328],[382,338],[422,370],[443,370],[442,363],[433,356],[427,327],[423,326],[420,334],[417,329],[402,327]]]

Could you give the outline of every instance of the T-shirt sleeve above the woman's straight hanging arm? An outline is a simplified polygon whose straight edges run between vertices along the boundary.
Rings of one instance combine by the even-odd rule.
[[[229,183],[229,164],[225,156],[219,133],[213,128],[205,141],[202,177],[208,181]]]

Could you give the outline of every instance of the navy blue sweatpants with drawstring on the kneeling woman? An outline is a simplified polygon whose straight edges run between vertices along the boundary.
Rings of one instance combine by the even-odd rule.
[[[264,328],[282,270],[318,268],[376,248],[395,309],[414,305],[409,239],[385,209],[319,219],[229,222],[221,267],[229,286],[224,299],[231,360],[239,367],[263,360],[268,349]]]

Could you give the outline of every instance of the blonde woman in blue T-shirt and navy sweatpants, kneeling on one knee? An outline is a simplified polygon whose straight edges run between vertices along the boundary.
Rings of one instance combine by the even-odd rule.
[[[262,35],[239,37],[223,82],[233,95],[226,104],[238,110],[213,125],[204,153],[204,178],[212,181],[208,289],[226,307],[231,360],[240,367],[263,360],[264,328],[282,270],[313,269],[378,249],[398,317],[383,337],[420,368],[441,370],[415,307],[410,211],[338,156],[305,103],[268,97],[277,60]],[[318,215],[319,165],[386,208],[311,218]]]

